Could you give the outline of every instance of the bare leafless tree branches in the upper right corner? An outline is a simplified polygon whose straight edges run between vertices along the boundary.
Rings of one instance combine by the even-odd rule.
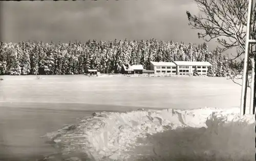
[[[243,73],[243,55],[245,53],[245,37],[247,25],[247,0],[194,0],[197,3],[200,14],[191,15],[186,12],[191,29],[199,30],[198,37],[209,42],[216,40],[222,52],[236,47],[236,55],[231,53],[233,58],[230,61],[237,59],[241,60],[241,64],[237,66],[236,72],[230,79],[234,82],[238,79],[238,75]],[[256,32],[256,5],[252,9],[252,19],[254,20],[250,28],[251,38],[255,38]],[[250,49],[249,58],[254,58],[256,51]],[[251,66],[251,65],[250,65]],[[238,83],[237,83],[238,84]],[[248,84],[249,85],[249,84]]]

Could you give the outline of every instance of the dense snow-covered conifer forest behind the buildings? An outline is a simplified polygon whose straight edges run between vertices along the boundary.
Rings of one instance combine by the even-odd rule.
[[[86,43],[1,42],[0,74],[83,74],[87,69],[101,73],[120,73],[122,64],[141,64],[150,69],[150,61],[208,61],[208,76],[227,76],[231,64],[216,48],[206,43],[114,40]]]

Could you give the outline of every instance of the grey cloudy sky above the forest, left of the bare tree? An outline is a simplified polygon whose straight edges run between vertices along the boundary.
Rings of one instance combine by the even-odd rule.
[[[1,2],[3,41],[69,42],[88,39],[157,40],[202,43],[186,11],[193,0]],[[212,49],[215,42],[207,43]]]

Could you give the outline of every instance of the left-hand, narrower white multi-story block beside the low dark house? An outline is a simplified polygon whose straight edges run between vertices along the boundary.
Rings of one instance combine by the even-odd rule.
[[[171,74],[176,73],[176,64],[173,62],[150,62],[150,70],[154,70],[155,74]]]

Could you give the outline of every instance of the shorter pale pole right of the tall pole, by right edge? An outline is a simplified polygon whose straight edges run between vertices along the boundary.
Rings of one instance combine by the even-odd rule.
[[[255,75],[255,62],[254,62],[254,58],[251,58],[251,97],[250,97],[250,108],[249,108],[249,114],[253,114],[253,108],[254,108],[254,100],[255,100],[255,87],[254,87],[254,82],[255,82],[255,79],[254,79],[254,75]]]

